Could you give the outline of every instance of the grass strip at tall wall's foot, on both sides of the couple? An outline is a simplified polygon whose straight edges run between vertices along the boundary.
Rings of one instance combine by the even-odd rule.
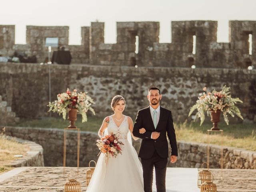
[[[88,122],[82,123],[82,118],[78,116],[75,125],[81,130],[98,132],[104,117],[89,116]],[[177,140],[187,142],[207,143],[207,130],[212,127],[211,122],[205,121],[202,126],[200,122],[175,123]],[[43,118],[40,120],[21,119],[15,126],[23,127],[42,127],[42,128],[66,128],[68,120],[62,118]],[[227,126],[225,122],[218,123],[218,127],[224,130],[223,145],[246,150],[256,151],[256,124],[232,123]],[[220,145],[220,135],[210,135],[212,144]]]

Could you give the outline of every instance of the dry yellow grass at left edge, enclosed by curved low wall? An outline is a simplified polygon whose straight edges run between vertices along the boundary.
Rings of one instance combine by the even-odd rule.
[[[14,155],[26,155],[29,150],[25,144],[20,144],[15,140],[8,140],[4,135],[0,136],[0,174],[9,171],[12,167],[6,166],[17,159]]]

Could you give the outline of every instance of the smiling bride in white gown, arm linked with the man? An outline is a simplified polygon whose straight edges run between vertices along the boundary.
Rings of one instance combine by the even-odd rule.
[[[106,162],[104,154],[100,154],[86,192],[144,192],[142,166],[131,142],[131,136],[134,140],[138,138],[132,134],[132,119],[122,114],[125,104],[122,96],[114,96],[111,102],[114,114],[103,120],[98,132],[100,138],[108,133],[116,134],[118,140],[124,143],[122,154],[110,157]],[[140,133],[145,131],[142,128]]]

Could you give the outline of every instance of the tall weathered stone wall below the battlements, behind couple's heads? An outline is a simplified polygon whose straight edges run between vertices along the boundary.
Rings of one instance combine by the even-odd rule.
[[[172,110],[175,122],[188,118],[204,86],[220,90],[226,84],[231,86],[232,97],[243,100],[238,107],[244,119],[256,121],[256,70],[53,64],[51,78],[52,100],[66,88],[86,91],[96,102],[96,114],[105,116],[112,113],[112,97],[121,94],[126,98],[125,114],[133,119],[139,109],[148,106],[148,87],[159,86],[161,106]],[[48,66],[0,64],[0,95],[19,117],[48,116]]]

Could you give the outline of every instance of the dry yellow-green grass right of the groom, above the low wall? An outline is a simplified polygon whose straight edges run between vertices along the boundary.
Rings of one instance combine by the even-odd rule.
[[[176,137],[178,140],[208,143],[208,132],[212,124],[206,124],[199,127],[196,123],[184,122],[183,124],[175,124]],[[221,129],[224,130],[223,145],[236,148],[244,148],[246,150],[256,151],[256,125],[236,124],[234,126],[226,126],[221,124]],[[240,126],[240,127],[239,127]],[[221,136],[219,133],[210,133],[210,143],[220,145]]]

